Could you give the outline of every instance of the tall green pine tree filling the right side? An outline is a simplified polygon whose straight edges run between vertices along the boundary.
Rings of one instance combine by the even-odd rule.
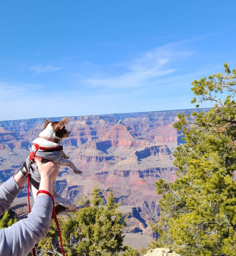
[[[148,249],[168,247],[183,256],[236,255],[236,70],[192,82],[197,102],[214,102],[207,113],[179,114],[184,134],[175,150],[178,179],[156,183],[162,209]],[[221,98],[219,97],[221,96]],[[222,95],[226,96],[222,100]]]

